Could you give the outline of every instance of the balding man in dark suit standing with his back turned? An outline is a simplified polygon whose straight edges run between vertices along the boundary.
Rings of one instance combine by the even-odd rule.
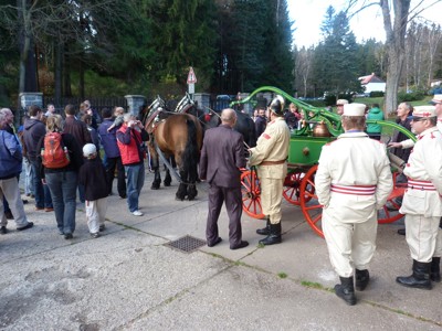
[[[200,178],[209,182],[209,214],[206,236],[209,247],[221,242],[218,235],[218,217],[222,203],[229,215],[230,249],[249,245],[242,241],[241,215],[241,171],[246,160],[242,135],[233,130],[236,113],[224,109],[221,113],[221,125],[206,132],[200,160]]]

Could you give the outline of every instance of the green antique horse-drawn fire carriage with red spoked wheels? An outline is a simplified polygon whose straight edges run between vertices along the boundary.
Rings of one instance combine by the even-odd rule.
[[[319,236],[324,236],[322,231],[322,205],[317,201],[315,194],[315,173],[322,147],[335,140],[344,132],[340,116],[325,108],[314,107],[299,99],[292,97],[285,92],[273,86],[263,86],[255,89],[243,100],[232,103],[231,106],[238,104],[251,103],[256,104],[256,97],[263,93],[278,94],[283,96],[287,103],[295,104],[299,111],[303,111],[303,126],[295,129],[291,135],[288,159],[287,159],[287,177],[284,180],[283,196],[291,204],[301,207],[306,221]],[[415,140],[406,128],[387,120],[367,120],[367,124],[378,124],[382,127],[382,131],[391,132],[399,130],[407,137]],[[389,139],[388,135],[383,139]],[[394,164],[394,162],[392,162]],[[399,213],[399,206],[396,199],[402,196],[406,190],[404,184],[397,183],[396,178],[400,172],[400,167],[392,167],[394,189],[391,192],[387,205],[379,211],[378,223],[391,223],[400,220],[403,215]],[[254,217],[263,218],[264,214],[261,209],[261,189],[260,180],[254,169],[245,170],[241,175],[242,181],[242,200],[243,211]]]

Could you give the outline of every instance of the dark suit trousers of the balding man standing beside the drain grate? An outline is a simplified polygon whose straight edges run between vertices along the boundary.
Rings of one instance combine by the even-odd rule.
[[[241,188],[220,188],[209,186],[209,214],[206,227],[206,237],[208,244],[214,243],[219,237],[218,217],[220,216],[222,203],[225,202],[225,210],[229,215],[229,242],[230,246],[241,244],[241,215],[242,199]]]

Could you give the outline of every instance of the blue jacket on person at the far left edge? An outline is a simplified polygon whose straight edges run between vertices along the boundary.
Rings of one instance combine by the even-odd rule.
[[[23,154],[19,139],[0,130],[0,180],[17,177],[21,172]]]

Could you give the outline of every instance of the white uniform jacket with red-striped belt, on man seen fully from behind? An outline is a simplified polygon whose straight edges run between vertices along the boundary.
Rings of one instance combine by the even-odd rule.
[[[333,217],[343,223],[372,220],[393,186],[386,146],[365,132],[340,135],[323,147],[315,185],[319,203]],[[351,193],[358,190],[371,194]]]

